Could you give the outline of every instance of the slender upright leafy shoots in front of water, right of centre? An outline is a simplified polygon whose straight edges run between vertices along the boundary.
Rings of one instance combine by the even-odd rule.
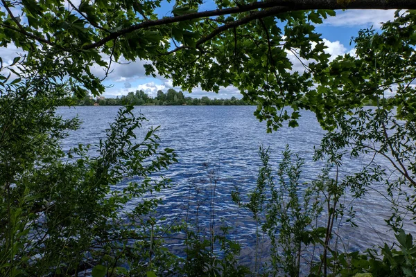
[[[302,265],[309,263],[311,269],[315,262],[315,253],[306,254],[309,249],[317,246],[325,249],[324,245],[329,244],[332,235],[329,226],[320,226],[318,222],[324,205],[329,204],[329,199],[325,198],[329,194],[331,181],[329,171],[324,170],[312,184],[301,182],[304,161],[297,155],[293,160],[287,146],[279,163],[276,184],[269,150],[262,145],[259,157],[262,164],[257,186],[248,195],[248,203],[243,204],[252,213],[257,226],[254,276],[300,276],[305,270],[301,269]],[[241,199],[236,194],[233,193],[233,199],[240,203]],[[331,222],[331,219],[327,220]],[[265,244],[270,244],[270,253],[265,252]],[[306,268],[306,271],[309,269]]]

